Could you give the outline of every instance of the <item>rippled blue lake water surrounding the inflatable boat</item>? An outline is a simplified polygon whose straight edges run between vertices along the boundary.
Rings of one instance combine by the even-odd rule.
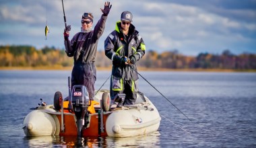
[[[139,137],[26,137],[24,117],[40,98],[53,104],[68,95],[71,71],[0,71],[0,147],[256,147],[256,73],[140,72],[139,90],[162,120],[156,133]],[[96,89],[110,71],[98,71]],[[102,87],[109,89],[109,80]],[[190,134],[189,134],[190,133]]]

